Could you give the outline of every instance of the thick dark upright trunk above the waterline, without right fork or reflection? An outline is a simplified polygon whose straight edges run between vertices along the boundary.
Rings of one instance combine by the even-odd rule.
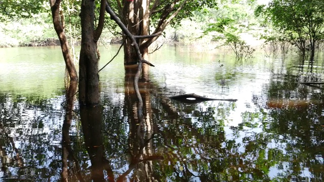
[[[79,103],[92,106],[100,103],[97,42],[94,37],[93,1],[82,1],[82,39],[79,60]]]

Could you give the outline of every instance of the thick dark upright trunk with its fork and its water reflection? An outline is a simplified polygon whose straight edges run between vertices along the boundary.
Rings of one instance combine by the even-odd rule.
[[[93,181],[105,181],[103,170],[106,168],[108,177],[112,171],[104,157],[102,142],[102,120],[99,93],[99,75],[97,41],[104,25],[106,0],[101,0],[98,26],[95,28],[95,3],[83,0],[81,5],[81,50],[79,58],[79,105],[80,119],[85,135],[85,143],[91,161]]]

